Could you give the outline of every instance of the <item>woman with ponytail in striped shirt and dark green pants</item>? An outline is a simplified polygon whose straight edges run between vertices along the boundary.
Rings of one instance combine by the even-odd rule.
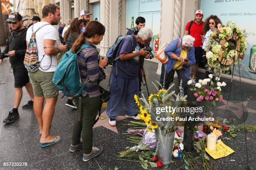
[[[100,107],[99,82],[105,79],[106,75],[103,67],[107,65],[107,58],[101,58],[96,50],[105,33],[105,27],[97,22],[87,23],[85,32],[83,32],[72,46],[72,53],[76,53],[84,43],[89,45],[85,47],[78,55],[79,73],[82,82],[86,86],[82,94],[82,114],[80,121],[75,120],[72,134],[72,145],[69,150],[74,152],[84,145],[83,161],[88,161],[99,155],[102,147],[92,146],[92,127]],[[80,141],[82,132],[82,141]]]

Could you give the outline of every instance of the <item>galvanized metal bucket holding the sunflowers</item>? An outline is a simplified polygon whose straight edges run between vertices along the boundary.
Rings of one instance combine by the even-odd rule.
[[[160,140],[158,144],[157,157],[158,160],[161,161],[164,165],[172,162],[174,133],[163,135],[163,143],[158,138],[158,134],[156,133],[156,142],[158,143],[158,140]]]

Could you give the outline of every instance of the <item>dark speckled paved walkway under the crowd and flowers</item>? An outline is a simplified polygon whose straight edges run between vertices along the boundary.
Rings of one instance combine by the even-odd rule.
[[[148,80],[148,87],[150,92],[156,92],[154,85],[151,83],[153,80],[159,80],[159,75],[156,75],[157,64],[152,62],[145,62],[146,78]],[[110,72],[110,67],[107,67],[107,74]],[[109,76],[107,76],[109,77]],[[203,77],[200,74],[198,77]],[[227,93],[230,86],[230,80],[223,80],[227,83],[227,86],[223,88],[223,93],[227,97]],[[101,82],[103,87],[106,87],[108,80]],[[177,79],[174,79],[174,83],[177,84]],[[122,133],[126,133],[127,126],[123,126],[124,112],[122,111],[117,127],[111,129],[106,120],[99,120],[95,126],[94,132],[94,145],[102,146],[102,153],[84,163],[82,161],[82,149],[79,149],[75,153],[69,152],[69,145],[71,143],[72,126],[77,117],[77,113],[74,109],[65,106],[67,98],[58,99],[56,105],[56,111],[54,119],[51,125],[51,133],[54,135],[61,135],[63,140],[56,144],[46,148],[39,146],[39,127],[36,117],[33,113],[33,109],[22,110],[19,108],[20,118],[12,124],[3,124],[3,119],[8,115],[13,107],[14,97],[14,79],[13,73],[10,69],[8,60],[3,62],[0,66],[0,170],[114,170],[118,167],[119,170],[141,170],[139,163],[116,160],[114,156],[120,151],[125,150],[126,146],[132,146],[126,142],[126,136]],[[233,103],[238,103],[241,100],[241,93],[238,89],[238,82],[233,82],[230,100]],[[177,85],[175,85],[177,89]],[[256,88],[254,85],[242,83],[242,91],[244,95],[244,101],[248,108],[248,124],[256,125]],[[23,89],[23,98],[20,105],[23,105],[29,100],[29,96],[25,89]],[[143,87],[143,90],[146,90]],[[192,99],[191,94],[189,98]],[[188,100],[189,100],[188,98]],[[194,98],[193,98],[194,99]],[[224,98],[225,99],[225,98]],[[236,104],[235,104],[236,105]],[[102,112],[104,109],[102,109]],[[224,137],[228,135],[224,135]],[[246,152],[244,142],[243,131],[238,133],[236,139],[225,142],[230,146],[235,153],[228,157],[218,160],[210,160],[210,165],[213,170],[225,169],[225,170],[242,170],[246,168]],[[248,133],[248,156],[251,170],[256,167],[255,153],[256,153],[256,134]],[[183,170],[183,160],[174,158],[174,163],[169,164],[169,170]],[[20,162],[27,163],[27,166],[3,166],[5,162]],[[156,168],[149,168],[156,169]]]

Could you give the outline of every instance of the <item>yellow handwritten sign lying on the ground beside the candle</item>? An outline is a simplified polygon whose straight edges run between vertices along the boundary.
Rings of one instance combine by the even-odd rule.
[[[205,148],[205,151],[207,153],[209,153],[209,155],[214,159],[222,158],[222,157],[228,156],[231,153],[235,152],[231,148],[229,148],[227,145],[225,145],[223,142],[219,142],[216,145],[215,150],[209,150],[209,149]]]

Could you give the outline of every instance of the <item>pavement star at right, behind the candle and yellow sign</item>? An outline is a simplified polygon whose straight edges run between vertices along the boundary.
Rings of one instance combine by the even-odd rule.
[[[227,100],[222,101],[224,103],[223,106],[217,107],[218,109],[225,109],[227,107],[227,110],[230,110],[233,112],[239,119],[241,119],[243,115],[243,110],[244,112],[251,112],[251,113],[256,113],[256,110],[250,109],[247,107],[248,101],[243,102],[244,107],[242,107],[242,102],[238,103],[233,103]],[[228,106],[227,106],[228,104]]]

